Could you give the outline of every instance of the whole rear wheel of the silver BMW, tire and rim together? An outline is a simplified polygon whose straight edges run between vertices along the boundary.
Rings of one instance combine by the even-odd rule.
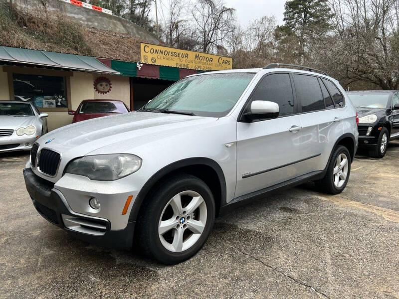
[[[322,192],[338,194],[345,189],[350,173],[351,155],[347,148],[338,146],[328,163],[326,175],[315,183]]]

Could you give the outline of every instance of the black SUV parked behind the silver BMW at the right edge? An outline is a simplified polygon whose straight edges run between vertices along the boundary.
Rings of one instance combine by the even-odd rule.
[[[348,95],[359,116],[359,148],[382,158],[388,142],[399,139],[399,91],[351,91]]]

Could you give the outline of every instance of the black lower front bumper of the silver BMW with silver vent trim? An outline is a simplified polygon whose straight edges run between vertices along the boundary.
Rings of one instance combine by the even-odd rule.
[[[73,212],[54,184],[38,177],[30,168],[23,169],[23,176],[34,207],[47,221],[85,242],[118,249],[132,247],[134,221],[128,222],[125,229],[111,230],[107,219]]]

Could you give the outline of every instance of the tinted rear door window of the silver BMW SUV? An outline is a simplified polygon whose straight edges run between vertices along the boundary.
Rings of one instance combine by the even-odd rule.
[[[324,99],[317,77],[294,74],[294,84],[302,112],[323,110]]]

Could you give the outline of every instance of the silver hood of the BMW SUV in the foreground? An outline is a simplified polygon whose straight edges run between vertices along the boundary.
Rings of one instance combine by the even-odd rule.
[[[82,156],[106,146],[125,152],[148,140],[170,137],[217,118],[153,112],[131,112],[95,118],[51,131],[38,140],[41,146]],[[51,141],[50,141],[51,140]],[[48,144],[44,145],[46,141]],[[111,153],[111,152],[110,152]]]

